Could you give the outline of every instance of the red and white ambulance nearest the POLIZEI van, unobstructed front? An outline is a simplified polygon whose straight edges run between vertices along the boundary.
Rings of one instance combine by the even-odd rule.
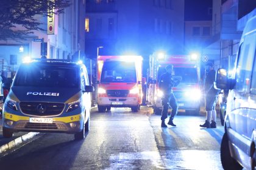
[[[142,103],[142,57],[98,56],[98,110],[130,107],[138,112]]]

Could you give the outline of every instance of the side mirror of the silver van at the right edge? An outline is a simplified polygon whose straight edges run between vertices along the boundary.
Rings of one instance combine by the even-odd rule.
[[[229,78],[226,69],[218,69],[215,76],[215,89],[229,89]]]

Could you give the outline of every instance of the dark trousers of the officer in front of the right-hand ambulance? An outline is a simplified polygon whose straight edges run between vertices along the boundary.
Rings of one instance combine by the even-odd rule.
[[[162,110],[161,120],[165,120],[167,118],[169,106],[171,106],[172,108],[171,119],[173,120],[179,108],[174,94],[171,93],[169,95],[165,95],[165,97],[162,98],[162,104],[163,104],[163,110]]]

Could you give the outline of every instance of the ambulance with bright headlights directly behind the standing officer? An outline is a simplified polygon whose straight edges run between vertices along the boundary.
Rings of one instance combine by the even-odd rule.
[[[173,87],[172,91],[177,99],[179,109],[192,111],[196,114],[200,111],[200,67],[197,56],[194,55],[151,55],[149,58],[148,92],[147,101],[154,107],[154,113],[162,113],[163,92],[158,89],[160,77],[166,72],[168,64],[174,66],[172,76],[182,77],[181,83]]]

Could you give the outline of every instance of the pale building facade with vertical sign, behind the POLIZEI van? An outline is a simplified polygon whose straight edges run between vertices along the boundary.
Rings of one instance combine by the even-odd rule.
[[[48,27],[47,17],[35,16],[41,28]],[[6,77],[15,72],[24,58],[41,58],[41,41],[47,42],[47,58],[71,59],[84,54],[85,44],[85,0],[72,0],[71,5],[60,15],[55,15],[54,34],[34,31],[21,39],[0,41],[1,71]],[[19,26],[17,27],[19,29]]]

